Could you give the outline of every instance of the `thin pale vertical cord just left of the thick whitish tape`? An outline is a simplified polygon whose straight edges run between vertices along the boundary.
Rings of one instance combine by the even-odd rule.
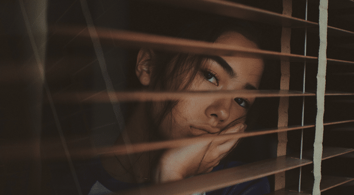
[[[305,9],[305,20],[307,20],[307,11],[308,11],[308,0],[306,0],[306,9]],[[304,45],[304,56],[306,56],[306,46],[307,46],[307,27],[305,27],[305,45]],[[306,61],[304,61],[304,78],[302,85],[302,93],[305,93],[305,78],[306,78]],[[301,116],[301,126],[304,126],[304,110],[305,110],[305,97],[302,97],[302,116]],[[300,159],[302,159],[302,146],[304,140],[304,129],[301,129],[301,144],[300,144]],[[299,193],[301,192],[301,170],[299,174]]]

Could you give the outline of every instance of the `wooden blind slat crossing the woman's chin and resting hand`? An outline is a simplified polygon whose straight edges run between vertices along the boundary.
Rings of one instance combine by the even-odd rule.
[[[333,124],[340,124],[340,123],[348,123],[354,122],[354,120],[345,120],[345,121],[336,121],[336,122],[327,122],[324,125],[333,125]],[[240,138],[240,137],[252,137],[252,136],[260,136],[284,131],[292,131],[292,130],[299,130],[299,129],[308,129],[314,127],[313,124],[305,125],[305,126],[288,126],[288,127],[281,127],[281,128],[272,128],[272,129],[261,129],[251,132],[243,132],[243,133],[236,133],[236,134],[229,134],[225,136],[216,136],[212,135],[208,137],[208,139],[220,138],[220,139],[229,139],[231,138]],[[153,142],[153,143],[140,143],[140,144],[133,144],[132,152],[146,152],[150,150],[159,150],[164,148],[173,148],[173,147],[181,147],[186,146],[191,143],[195,143],[196,141],[200,141],[200,137],[194,138],[187,138],[187,139],[178,139],[178,140],[171,140],[171,141],[164,141],[164,142]],[[67,143],[71,148],[70,153],[73,158],[91,158],[100,154],[109,154],[115,152],[116,154],[128,154],[125,149],[125,146],[114,146],[114,147],[106,147],[100,148],[96,150],[92,150],[89,148],[89,137],[79,137],[79,138],[70,138],[68,137]],[[5,143],[2,142],[1,148],[4,150],[0,151],[0,156],[3,157],[5,161],[11,160],[18,160],[18,159],[30,159],[34,156],[31,156],[28,150],[27,142],[21,143]],[[42,140],[42,158],[43,159],[62,159],[65,158],[65,154],[58,150],[61,147],[61,143],[59,139],[43,139]],[[344,153],[349,153],[350,151],[346,151],[347,149],[343,149]],[[326,153],[327,154],[327,153]],[[334,154],[335,155],[335,154]],[[298,157],[299,155],[292,155],[292,157]],[[311,159],[311,158],[309,158]]]

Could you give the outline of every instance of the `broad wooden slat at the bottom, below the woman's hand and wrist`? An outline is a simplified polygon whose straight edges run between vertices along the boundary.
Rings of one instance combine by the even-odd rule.
[[[238,167],[211,172],[204,175],[189,177],[180,181],[142,187],[119,195],[186,195],[212,191],[227,186],[243,183],[275,173],[284,172],[312,163],[311,160],[280,156],[264,161],[254,162]]]

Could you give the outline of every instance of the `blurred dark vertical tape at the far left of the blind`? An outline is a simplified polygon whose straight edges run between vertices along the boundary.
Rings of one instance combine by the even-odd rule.
[[[21,14],[24,20],[24,24],[27,30],[27,35],[30,41],[30,45],[32,47],[32,52],[33,52],[33,57],[34,57],[34,64],[32,69],[36,70],[36,72],[38,71],[37,75],[36,73],[34,73],[34,75],[37,78],[32,78],[31,79],[31,83],[27,84],[26,87],[26,91],[27,90],[36,90],[35,93],[31,93],[30,96],[30,102],[31,104],[33,104],[33,102],[36,104],[36,109],[33,109],[33,113],[31,114],[31,121],[33,122],[33,132],[32,132],[32,138],[33,138],[33,142],[30,144],[33,149],[33,153],[32,155],[35,156],[35,160],[32,160],[32,164],[34,165],[30,165],[30,175],[29,178],[30,179],[34,179],[37,180],[37,184],[35,183],[31,183],[29,182],[29,186],[33,185],[34,189],[33,191],[35,192],[40,192],[41,188],[42,188],[42,160],[41,160],[41,136],[42,136],[42,128],[41,128],[41,119],[42,119],[42,93],[43,93],[43,83],[45,81],[44,79],[44,58],[43,56],[45,56],[45,49],[43,49],[43,47],[41,47],[41,45],[43,46],[43,43],[46,42],[46,39],[43,38],[45,37],[44,35],[46,34],[46,30],[47,30],[47,22],[46,22],[46,17],[40,17],[41,11],[37,10],[36,13],[34,13],[35,11],[31,11],[29,10],[29,12],[26,12],[26,7],[25,4],[23,2],[23,0],[19,0],[20,3],[20,9],[21,9]],[[46,2],[37,2],[42,3],[42,4],[46,4]],[[27,4],[27,8],[30,9],[32,6],[34,5],[34,3],[28,3]],[[45,5],[44,5],[45,6]],[[46,11],[46,10],[45,10]],[[35,24],[32,23],[31,25],[31,21],[33,22],[33,20],[30,20],[30,17],[33,15],[36,17],[35,21],[42,21],[42,28],[36,29],[38,28],[38,26],[36,26]],[[44,15],[44,14],[43,14]],[[43,16],[42,15],[42,16]],[[31,30],[33,29],[34,32]],[[35,30],[38,30],[39,32],[36,32]],[[41,37],[37,43],[35,40],[35,35],[34,34],[39,34]],[[39,44],[40,46],[38,46],[37,44]],[[32,75],[31,75],[32,76]],[[33,99],[36,100],[33,100]],[[31,173],[31,169],[34,169],[33,172],[35,173]],[[74,178],[75,179],[75,178]]]

